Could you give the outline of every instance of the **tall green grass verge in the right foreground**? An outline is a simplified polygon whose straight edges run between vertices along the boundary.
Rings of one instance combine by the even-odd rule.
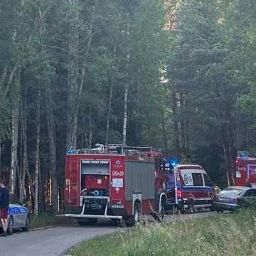
[[[119,230],[82,242],[73,256],[256,255],[256,210]]]

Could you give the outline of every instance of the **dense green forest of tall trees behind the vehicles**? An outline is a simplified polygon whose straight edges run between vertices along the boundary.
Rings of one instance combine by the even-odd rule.
[[[1,0],[0,176],[63,205],[65,153],[153,146],[233,183],[256,151],[256,1]]]

